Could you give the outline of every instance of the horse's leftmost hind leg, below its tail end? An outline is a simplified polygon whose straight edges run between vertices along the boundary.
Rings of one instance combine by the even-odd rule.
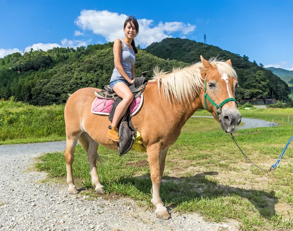
[[[74,150],[77,143],[78,136],[66,136],[66,150],[65,150],[65,159],[66,159],[66,182],[68,184],[68,193],[76,194],[78,190],[73,181],[73,174],[72,174],[72,164],[74,161]]]

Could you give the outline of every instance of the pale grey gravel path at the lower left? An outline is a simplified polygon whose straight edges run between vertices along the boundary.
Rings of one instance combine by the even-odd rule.
[[[90,200],[68,194],[66,185],[41,183],[46,174],[31,171],[34,157],[64,148],[63,141],[0,145],[0,231],[238,230],[237,223],[207,223],[196,213],[171,212],[164,221],[129,198]]]

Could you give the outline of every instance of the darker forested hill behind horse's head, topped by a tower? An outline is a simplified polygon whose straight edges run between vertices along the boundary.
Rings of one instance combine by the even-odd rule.
[[[167,38],[161,42],[154,42],[146,48],[146,51],[159,58],[167,60],[180,60],[188,63],[200,61],[200,55],[209,59],[217,57],[220,60],[231,59],[235,68],[240,87],[237,88],[238,99],[249,98],[276,98],[289,102],[291,93],[288,84],[274,75],[271,71],[257,65],[255,61],[249,61],[249,57],[240,57],[219,47],[192,41],[189,39]]]

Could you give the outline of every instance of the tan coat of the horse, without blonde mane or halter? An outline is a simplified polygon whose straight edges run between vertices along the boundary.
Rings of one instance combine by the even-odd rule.
[[[188,118],[200,107],[204,105],[203,81],[207,78],[208,83],[217,85],[217,89],[210,88],[208,91],[210,97],[216,103],[220,103],[228,98],[228,93],[234,96],[237,79],[229,77],[227,81],[221,79],[217,67],[212,66],[208,61],[202,58],[203,66],[201,68],[201,77],[199,94],[192,98],[188,96],[186,103],[180,104],[175,98],[171,101],[163,96],[164,89],[158,87],[158,80],[149,81],[144,91],[144,104],[139,113],[132,117],[131,121],[134,127],[141,133],[143,144],[146,146],[147,160],[150,167],[150,176],[152,180],[152,200],[156,206],[156,215],[162,219],[170,217],[167,209],[160,198],[160,183],[165,168],[165,159],[168,147],[174,144],[180,135],[183,125]],[[229,61],[230,62],[230,61]],[[229,63],[228,62],[228,63]],[[210,85],[210,84],[209,84]],[[74,148],[77,140],[87,152],[90,165],[92,184],[98,193],[103,193],[103,186],[99,181],[96,171],[97,149],[102,145],[108,149],[117,150],[117,143],[106,137],[108,126],[111,124],[108,116],[94,115],[91,113],[91,104],[95,98],[96,88],[83,88],[71,95],[65,106],[65,125],[66,125],[66,170],[69,193],[77,193],[72,176],[72,163],[74,160]],[[170,90],[171,91],[171,90]],[[161,93],[161,96],[160,96]],[[166,92],[165,92],[166,93]],[[189,100],[189,101],[188,101]],[[188,103],[187,103],[188,102]],[[209,110],[215,116],[215,109],[209,103]],[[237,110],[235,102],[228,102],[222,110],[223,121],[225,120],[225,111],[238,119],[233,119],[233,124],[226,124],[237,127],[240,123],[241,116]],[[228,116],[229,116],[228,115]],[[216,118],[217,119],[217,118]],[[227,115],[226,115],[227,120]],[[225,124],[225,123],[224,123]],[[222,123],[221,123],[222,125]],[[233,128],[234,128],[233,127]],[[223,126],[222,126],[223,128]],[[227,130],[223,128],[223,130]],[[235,130],[235,129],[234,129]],[[236,128],[237,130],[237,128]],[[99,158],[99,155],[98,155]]]

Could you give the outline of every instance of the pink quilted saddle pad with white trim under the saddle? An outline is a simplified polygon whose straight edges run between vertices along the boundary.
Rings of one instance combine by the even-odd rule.
[[[143,94],[131,102],[129,108],[130,108],[130,116],[134,116],[141,108],[143,104],[144,96]],[[108,116],[112,107],[114,100],[113,99],[101,99],[101,98],[95,98],[95,100],[92,103],[91,112],[93,114],[98,115],[106,115]]]

